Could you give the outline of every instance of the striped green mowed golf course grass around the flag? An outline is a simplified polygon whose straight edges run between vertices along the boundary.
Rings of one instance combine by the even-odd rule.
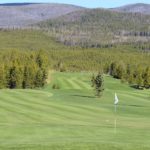
[[[90,76],[53,73],[41,90],[0,90],[0,149],[149,150],[150,90],[105,76],[105,92],[96,98]]]

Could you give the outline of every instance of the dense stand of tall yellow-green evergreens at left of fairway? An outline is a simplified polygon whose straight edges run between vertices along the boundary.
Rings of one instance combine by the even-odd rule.
[[[44,51],[0,52],[0,88],[36,88],[46,83],[48,58]]]

